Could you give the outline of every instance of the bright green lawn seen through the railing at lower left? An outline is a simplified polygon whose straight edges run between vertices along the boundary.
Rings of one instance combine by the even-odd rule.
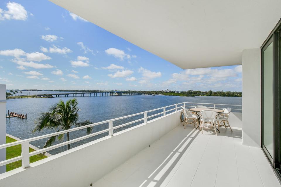
[[[14,141],[16,141],[16,140],[6,136],[6,143],[11,143]],[[29,148],[29,152],[32,152],[32,151],[35,151],[35,150],[32,148]],[[21,154],[21,145],[16,145],[16,146],[6,148],[6,160],[13,158],[13,157],[20,156],[20,154]],[[39,154],[39,155],[34,155],[34,156],[30,157],[29,160],[30,160],[30,163],[32,163],[32,162],[36,162],[37,160],[41,160],[43,158],[47,158],[47,156]],[[7,164],[6,171],[8,172],[8,171],[10,171],[12,169],[16,169],[18,167],[21,167],[21,160]]]

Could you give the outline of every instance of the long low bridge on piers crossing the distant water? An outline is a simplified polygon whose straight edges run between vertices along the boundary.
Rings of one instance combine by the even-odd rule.
[[[128,91],[93,91],[93,92],[74,92],[74,93],[48,93],[48,94],[34,94],[32,96],[38,96],[38,97],[59,97],[59,96],[65,96],[68,97],[73,96],[77,97],[81,96],[131,96],[131,95],[143,95],[144,93],[140,92],[128,92]]]

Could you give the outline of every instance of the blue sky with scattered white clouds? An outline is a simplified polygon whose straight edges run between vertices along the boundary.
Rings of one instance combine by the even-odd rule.
[[[241,65],[182,70],[50,1],[1,1],[7,89],[241,91]]]

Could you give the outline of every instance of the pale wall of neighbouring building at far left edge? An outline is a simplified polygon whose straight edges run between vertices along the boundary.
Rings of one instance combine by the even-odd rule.
[[[6,143],[6,85],[0,84],[0,145]],[[0,161],[6,160],[6,149],[0,149]],[[6,165],[0,167],[0,173],[6,172]]]

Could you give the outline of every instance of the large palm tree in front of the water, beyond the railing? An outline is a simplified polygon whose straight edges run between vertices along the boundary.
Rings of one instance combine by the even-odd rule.
[[[86,120],[84,122],[78,122],[78,101],[76,98],[69,99],[64,103],[63,100],[60,100],[58,103],[51,106],[49,112],[41,113],[40,117],[35,122],[36,127],[33,129],[33,133],[36,131],[41,131],[43,129],[54,129],[56,132],[68,130],[72,126],[81,127],[88,124],[91,124],[90,121]],[[86,132],[90,134],[93,127],[87,127]],[[69,141],[69,132],[67,134],[67,141]],[[43,146],[43,148],[52,146],[56,138],[59,141],[64,140],[64,134],[51,136]],[[68,144],[68,149],[70,149],[70,144]]]

